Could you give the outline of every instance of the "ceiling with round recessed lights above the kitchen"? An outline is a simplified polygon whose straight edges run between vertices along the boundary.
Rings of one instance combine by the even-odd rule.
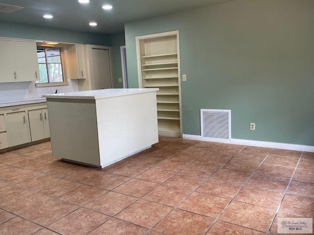
[[[0,12],[0,21],[110,34],[123,32],[124,22],[227,1],[232,0],[90,0],[88,4],[78,0],[0,0],[24,7],[12,13]],[[113,9],[105,11],[104,4],[111,4]],[[43,18],[48,13],[52,19]],[[89,26],[91,21],[98,25]]]

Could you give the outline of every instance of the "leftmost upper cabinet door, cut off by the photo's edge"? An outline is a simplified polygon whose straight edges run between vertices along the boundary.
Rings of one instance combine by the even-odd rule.
[[[14,42],[0,39],[0,82],[14,82]]]

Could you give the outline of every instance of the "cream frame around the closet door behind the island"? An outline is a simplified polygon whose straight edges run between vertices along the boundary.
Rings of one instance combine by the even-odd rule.
[[[95,90],[95,80],[94,78],[94,70],[93,70],[93,49],[105,49],[109,51],[109,67],[110,67],[110,82],[111,87],[114,87],[114,72],[113,72],[113,47],[107,47],[107,46],[98,46],[98,45],[91,45],[86,44],[84,45],[84,56],[85,56],[85,66],[87,71],[87,78],[86,81],[84,81],[84,90]],[[80,79],[84,80],[84,79]]]

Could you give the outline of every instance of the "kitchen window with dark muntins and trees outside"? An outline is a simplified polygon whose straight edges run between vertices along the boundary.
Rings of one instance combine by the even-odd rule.
[[[36,83],[64,82],[61,49],[56,47],[37,47],[40,80]]]

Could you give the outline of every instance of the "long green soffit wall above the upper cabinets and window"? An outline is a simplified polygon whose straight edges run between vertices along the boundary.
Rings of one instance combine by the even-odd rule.
[[[109,36],[26,24],[0,22],[0,37],[110,46]]]

